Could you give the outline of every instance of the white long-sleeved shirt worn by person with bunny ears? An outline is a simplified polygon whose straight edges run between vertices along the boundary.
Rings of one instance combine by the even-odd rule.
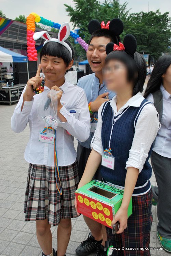
[[[63,90],[61,101],[65,103],[65,107],[62,107],[60,113],[67,122],[60,122],[58,120],[59,125],[56,131],[57,158],[59,166],[68,166],[74,163],[77,157],[73,142],[74,137],[84,142],[90,136],[90,113],[87,97],[82,88],[71,85],[66,81],[60,88]],[[47,90],[50,89],[44,86],[44,92],[47,93]],[[38,141],[39,132],[46,126],[45,122],[40,121],[37,114],[37,105],[40,105],[41,94],[36,94],[32,101],[25,101],[21,111],[23,93],[11,118],[12,130],[16,133],[22,132],[27,123],[29,123],[30,139],[24,155],[26,161],[33,164],[54,166],[54,145]],[[78,119],[75,118],[74,114],[67,111],[67,109],[72,108],[80,110]],[[72,136],[67,134],[66,131]],[[49,130],[47,132],[54,133],[54,131]]]

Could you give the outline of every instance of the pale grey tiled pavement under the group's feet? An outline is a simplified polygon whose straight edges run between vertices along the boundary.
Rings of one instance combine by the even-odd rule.
[[[23,213],[24,193],[28,163],[24,149],[29,138],[29,127],[20,134],[11,130],[11,116],[16,105],[0,105],[0,256],[39,256],[41,248],[36,239],[34,222],[25,222]],[[155,176],[151,182],[156,185]],[[150,247],[160,247],[156,236],[157,214],[152,207],[153,224]],[[72,220],[71,239],[67,255],[75,255],[75,249],[88,235],[88,228],[80,216]],[[52,227],[53,247],[56,249],[56,228]],[[168,256],[164,251],[151,251],[151,255]]]

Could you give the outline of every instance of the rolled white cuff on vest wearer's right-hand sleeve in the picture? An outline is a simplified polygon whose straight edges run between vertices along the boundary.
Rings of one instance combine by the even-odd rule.
[[[141,143],[140,151],[130,149],[129,158],[126,162],[126,169],[128,169],[128,167],[134,167],[139,169],[139,173],[142,171],[144,163],[148,157],[148,154],[144,153],[144,150],[144,143]]]

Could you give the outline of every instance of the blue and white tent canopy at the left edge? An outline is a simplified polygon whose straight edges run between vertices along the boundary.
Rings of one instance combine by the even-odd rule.
[[[0,46],[0,62],[28,62],[27,56]]]

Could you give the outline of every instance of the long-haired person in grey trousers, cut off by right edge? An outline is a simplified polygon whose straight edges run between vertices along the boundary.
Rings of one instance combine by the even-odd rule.
[[[171,252],[171,54],[156,62],[144,97],[156,107],[161,123],[151,155],[158,186],[152,187],[153,205],[157,204],[157,237]]]

